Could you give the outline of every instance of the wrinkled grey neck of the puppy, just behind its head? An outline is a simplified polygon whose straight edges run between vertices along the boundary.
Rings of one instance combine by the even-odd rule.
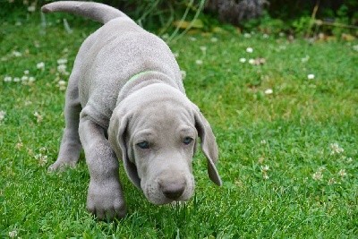
[[[116,106],[120,102],[131,95],[136,90],[141,90],[143,87],[149,86],[150,84],[155,83],[163,83],[169,85],[177,90],[180,90],[183,94],[185,91],[183,90],[183,86],[178,85],[173,79],[167,76],[165,73],[160,73],[156,71],[146,71],[135,74],[129,79],[124,87],[119,91]]]

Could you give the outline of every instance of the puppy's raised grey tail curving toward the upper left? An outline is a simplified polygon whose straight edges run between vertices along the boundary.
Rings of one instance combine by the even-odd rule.
[[[118,17],[129,18],[118,9],[106,4],[77,1],[59,1],[41,7],[43,13],[64,12],[81,15],[103,24]]]

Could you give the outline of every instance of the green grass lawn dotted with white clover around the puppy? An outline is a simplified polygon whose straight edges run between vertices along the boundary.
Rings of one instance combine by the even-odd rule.
[[[218,170],[225,183],[219,188],[209,182],[199,153],[192,201],[158,207],[121,169],[128,215],[107,223],[86,212],[89,173],[84,160],[64,173],[47,173],[64,128],[64,91],[57,82],[68,76],[56,76],[57,60],[68,59],[70,72],[81,42],[99,26],[69,21],[73,32],[68,34],[56,23],[61,16],[47,16],[52,25],[46,30],[38,14],[29,20],[13,15],[0,25],[0,111],[5,112],[0,123],[0,237],[358,235],[356,40],[310,44],[260,33],[251,38],[222,33],[173,42],[170,47],[186,72],[187,95],[217,135]],[[21,26],[15,25],[16,18]],[[253,52],[247,53],[247,47]],[[310,59],[303,62],[306,55]],[[241,63],[242,57],[263,57],[266,63]],[[45,70],[37,69],[39,62]],[[3,81],[5,76],[21,78],[25,70],[35,77],[32,84]],[[310,73],[313,80],[307,79]],[[265,94],[268,89],[273,93]],[[332,147],[337,153],[332,154]]]

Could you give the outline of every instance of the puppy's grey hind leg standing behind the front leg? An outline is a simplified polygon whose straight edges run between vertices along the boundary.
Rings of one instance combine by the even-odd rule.
[[[61,141],[60,151],[55,163],[48,167],[50,171],[62,169],[65,166],[75,166],[80,158],[81,141],[79,124],[81,103],[79,99],[78,77],[72,72],[66,90],[64,103],[65,128]]]

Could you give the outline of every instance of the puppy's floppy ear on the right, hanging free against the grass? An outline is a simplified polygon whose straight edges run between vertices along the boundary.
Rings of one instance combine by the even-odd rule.
[[[208,159],[208,175],[212,182],[221,186],[221,178],[217,173],[218,150],[217,141],[215,140],[214,133],[211,130],[210,124],[207,119],[200,113],[198,107],[195,108],[195,128],[198,131],[201,140],[201,150],[205,157]]]

